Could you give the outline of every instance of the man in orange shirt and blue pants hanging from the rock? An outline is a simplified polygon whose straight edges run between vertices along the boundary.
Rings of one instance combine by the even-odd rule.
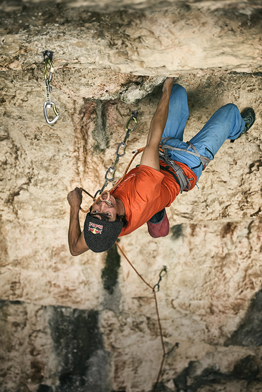
[[[139,167],[128,172],[110,194],[105,191],[100,195],[86,215],[83,231],[79,224],[81,189],[75,188],[68,194],[68,242],[72,255],[88,249],[108,250],[119,236],[131,233],[146,222],[152,237],[166,236],[169,222],[165,207],[169,207],[180,192],[196,185],[226,139],[234,142],[255,121],[252,108],[240,114],[236,105],[229,103],[218,109],[201,131],[185,143],[187,95],[182,86],[173,83],[174,79],[168,77],[163,84]]]

